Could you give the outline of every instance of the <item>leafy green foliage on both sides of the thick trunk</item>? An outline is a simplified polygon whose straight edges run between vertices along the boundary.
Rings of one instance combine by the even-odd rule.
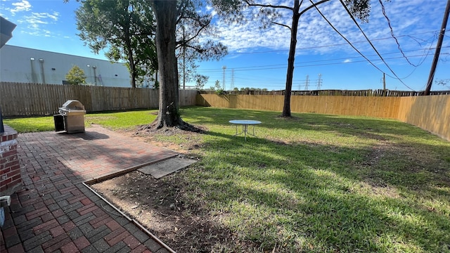
[[[153,80],[158,70],[155,46],[156,22],[153,8],[146,0],[86,0],[76,11],[79,37],[95,52],[108,48],[105,56],[123,60],[129,68],[131,86]],[[226,47],[212,39],[212,15],[199,12],[203,1],[177,1],[176,56],[183,70],[183,82],[203,82],[195,73],[196,60],[217,60]]]

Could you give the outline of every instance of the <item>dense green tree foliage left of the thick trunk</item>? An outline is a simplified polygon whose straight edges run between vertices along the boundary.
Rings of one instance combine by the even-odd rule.
[[[77,15],[78,36],[98,53],[112,61],[124,60],[129,68],[131,86],[136,87],[158,69],[155,49],[155,20],[143,0],[80,1]]]

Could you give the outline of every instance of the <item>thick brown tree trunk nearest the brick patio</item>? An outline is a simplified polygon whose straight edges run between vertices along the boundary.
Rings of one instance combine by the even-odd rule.
[[[178,16],[176,1],[152,1],[156,18],[156,49],[160,72],[160,103],[158,118],[153,126],[177,126],[195,131],[179,115],[178,67],[175,56],[175,29]]]

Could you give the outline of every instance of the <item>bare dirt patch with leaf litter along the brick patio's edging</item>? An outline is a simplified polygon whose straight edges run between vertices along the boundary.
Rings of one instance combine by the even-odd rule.
[[[183,200],[179,175],[154,179],[132,171],[92,186],[176,252],[222,252],[235,248],[233,235],[201,207]]]

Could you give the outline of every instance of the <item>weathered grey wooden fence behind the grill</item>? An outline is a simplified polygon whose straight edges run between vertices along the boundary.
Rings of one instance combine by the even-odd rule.
[[[195,105],[198,91],[179,90],[179,105]],[[65,101],[79,100],[87,112],[158,108],[155,89],[22,84],[0,82],[0,105],[4,116],[53,115]]]

